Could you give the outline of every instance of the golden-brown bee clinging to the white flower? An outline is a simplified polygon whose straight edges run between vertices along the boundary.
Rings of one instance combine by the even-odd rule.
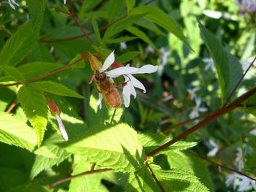
[[[121,96],[118,89],[105,72],[96,71],[95,79],[99,93],[102,93],[104,100],[114,109],[121,106]]]

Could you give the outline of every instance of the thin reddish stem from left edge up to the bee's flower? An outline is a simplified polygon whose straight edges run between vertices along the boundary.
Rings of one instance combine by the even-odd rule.
[[[35,77],[35,78],[30,79],[30,80],[26,80],[26,82],[34,82],[34,81],[36,81],[36,80],[41,80],[42,78],[49,77],[50,75],[53,75],[53,74],[56,74],[56,73],[58,73],[58,72],[62,72],[62,71],[64,71],[64,70],[67,70],[67,69],[69,69],[71,66],[74,66],[75,64],[78,64],[78,62],[83,61],[83,60],[86,60],[86,59],[88,59],[88,57],[80,58],[80,59],[78,59],[77,61],[73,62],[72,64],[68,64],[67,66],[63,66],[63,67],[61,67],[60,69],[56,69],[55,71],[50,72],[50,73],[48,73],[48,74],[43,74],[43,75],[41,75],[41,76],[39,76],[39,77]],[[13,85],[22,85],[22,83],[20,83],[20,82],[15,82],[15,83],[10,83],[10,84],[0,85],[0,88],[6,88],[6,87],[13,86]]]

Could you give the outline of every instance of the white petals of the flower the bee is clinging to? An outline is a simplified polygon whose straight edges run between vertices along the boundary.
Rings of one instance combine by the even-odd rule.
[[[108,67],[112,65],[114,61],[115,61],[115,55],[113,51],[112,53],[110,53],[110,55],[108,55],[108,58],[106,58],[106,60],[104,61],[102,69],[99,69],[99,72],[105,72],[105,70],[108,69]],[[126,82],[126,85],[124,85],[122,95],[124,98],[125,107],[129,107],[130,96],[133,95],[134,97],[136,97],[135,88],[140,88],[143,90],[143,93],[146,93],[146,88],[144,87],[144,85],[135,77],[133,77],[132,74],[144,74],[144,73],[154,73],[154,72],[157,72],[157,66],[144,65],[140,68],[136,68],[136,67],[131,67],[127,65],[127,66],[121,66],[116,69],[105,72],[105,74],[111,78],[116,78],[120,75],[124,75],[124,80]],[[102,101],[102,98],[99,94],[99,101],[98,101],[99,107],[101,106],[101,101]]]

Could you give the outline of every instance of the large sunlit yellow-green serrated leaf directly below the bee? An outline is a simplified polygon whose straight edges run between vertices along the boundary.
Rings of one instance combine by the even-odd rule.
[[[61,146],[89,163],[122,172],[140,169],[146,159],[136,131],[125,123],[87,128],[80,138]]]

